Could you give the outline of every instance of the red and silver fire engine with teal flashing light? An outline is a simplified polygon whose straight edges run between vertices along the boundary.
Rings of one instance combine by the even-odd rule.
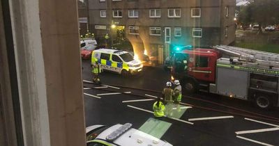
[[[279,54],[218,45],[176,52],[172,63],[172,77],[186,92],[249,100],[259,108],[279,106]]]

